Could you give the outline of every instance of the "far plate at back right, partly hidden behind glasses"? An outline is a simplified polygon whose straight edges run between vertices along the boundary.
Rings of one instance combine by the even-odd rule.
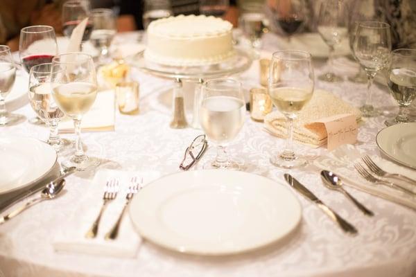
[[[281,38],[277,40],[277,46],[281,50],[300,50],[311,53],[312,57],[329,57],[329,47],[325,44],[319,33],[300,33],[291,37],[291,41]],[[345,38],[335,47],[335,55],[349,55],[348,39]]]

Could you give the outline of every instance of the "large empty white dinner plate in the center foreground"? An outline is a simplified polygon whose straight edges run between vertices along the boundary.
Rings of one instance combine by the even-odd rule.
[[[142,237],[174,251],[250,251],[286,237],[300,222],[300,203],[282,184],[239,171],[179,172],[142,189],[130,218]]]

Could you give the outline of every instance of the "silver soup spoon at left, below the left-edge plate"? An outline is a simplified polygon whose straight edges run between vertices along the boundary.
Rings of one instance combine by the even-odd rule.
[[[40,203],[44,200],[55,198],[56,195],[58,195],[62,191],[62,188],[64,188],[64,185],[65,185],[64,179],[61,179],[60,181],[58,181],[58,183],[55,183],[52,181],[51,183],[47,184],[42,190],[42,192],[40,193],[40,197],[32,199],[31,201],[15,209],[15,211],[12,211],[8,215],[0,217],[0,224],[3,224],[4,222],[15,217],[16,215],[19,215],[19,213],[26,210],[26,208],[33,206],[34,204]]]

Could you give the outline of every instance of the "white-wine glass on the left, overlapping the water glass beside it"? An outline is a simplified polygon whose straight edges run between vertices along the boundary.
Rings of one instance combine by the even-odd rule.
[[[53,57],[51,82],[53,99],[58,107],[73,120],[76,152],[62,165],[85,170],[98,166],[98,159],[87,157],[81,143],[81,120],[94,104],[97,95],[97,80],[94,62],[84,53],[65,53]]]

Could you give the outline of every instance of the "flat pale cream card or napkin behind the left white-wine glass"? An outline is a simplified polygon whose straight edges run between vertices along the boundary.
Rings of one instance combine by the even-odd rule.
[[[114,90],[99,91],[91,109],[83,116],[81,129],[83,132],[114,131],[115,123],[115,93]],[[59,123],[61,133],[72,133],[73,122],[66,118]]]

